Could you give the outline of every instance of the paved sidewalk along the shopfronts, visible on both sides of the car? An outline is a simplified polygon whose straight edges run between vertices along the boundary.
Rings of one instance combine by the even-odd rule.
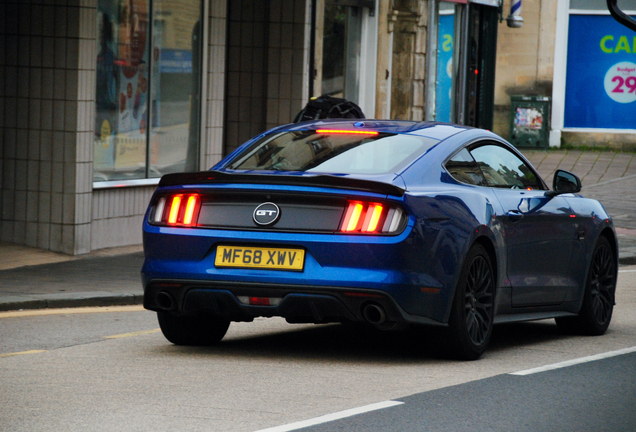
[[[636,153],[522,151],[550,186],[557,168],[577,174],[614,219],[620,264],[636,264]],[[0,243],[0,311],[140,304],[142,263],[141,246],[72,257]]]

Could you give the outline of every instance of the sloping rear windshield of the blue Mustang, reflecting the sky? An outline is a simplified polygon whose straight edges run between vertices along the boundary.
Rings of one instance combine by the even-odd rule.
[[[234,157],[233,170],[337,174],[398,172],[435,145],[432,138],[294,131],[267,135]]]

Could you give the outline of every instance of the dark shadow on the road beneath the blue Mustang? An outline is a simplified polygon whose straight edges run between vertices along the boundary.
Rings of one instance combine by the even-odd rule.
[[[554,321],[495,326],[488,353],[531,347],[571,336],[560,333]],[[381,331],[373,327],[343,324],[303,326],[299,329],[229,338],[212,347],[166,345],[162,354],[215,357],[336,361],[339,363],[414,364],[453,360],[445,335],[439,329],[411,327]]]

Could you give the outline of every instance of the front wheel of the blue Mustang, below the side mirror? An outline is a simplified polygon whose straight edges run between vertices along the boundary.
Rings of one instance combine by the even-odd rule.
[[[579,315],[556,318],[559,330],[588,336],[604,334],[612,320],[615,293],[616,258],[607,238],[599,237],[585,280]]]

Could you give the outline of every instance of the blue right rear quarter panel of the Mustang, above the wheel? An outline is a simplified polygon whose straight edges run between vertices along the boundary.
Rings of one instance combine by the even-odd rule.
[[[458,148],[479,138],[492,138],[492,134],[478,129],[461,131],[430,148],[401,173],[407,186],[405,203],[415,216],[416,252],[411,259],[421,260],[425,271],[444,286],[437,297],[422,301],[443,309],[444,322],[450,315],[464,257],[476,241],[492,245],[497,287],[509,289],[503,227],[495,217],[503,211],[499,201],[490,188],[461,184],[443,167]]]

